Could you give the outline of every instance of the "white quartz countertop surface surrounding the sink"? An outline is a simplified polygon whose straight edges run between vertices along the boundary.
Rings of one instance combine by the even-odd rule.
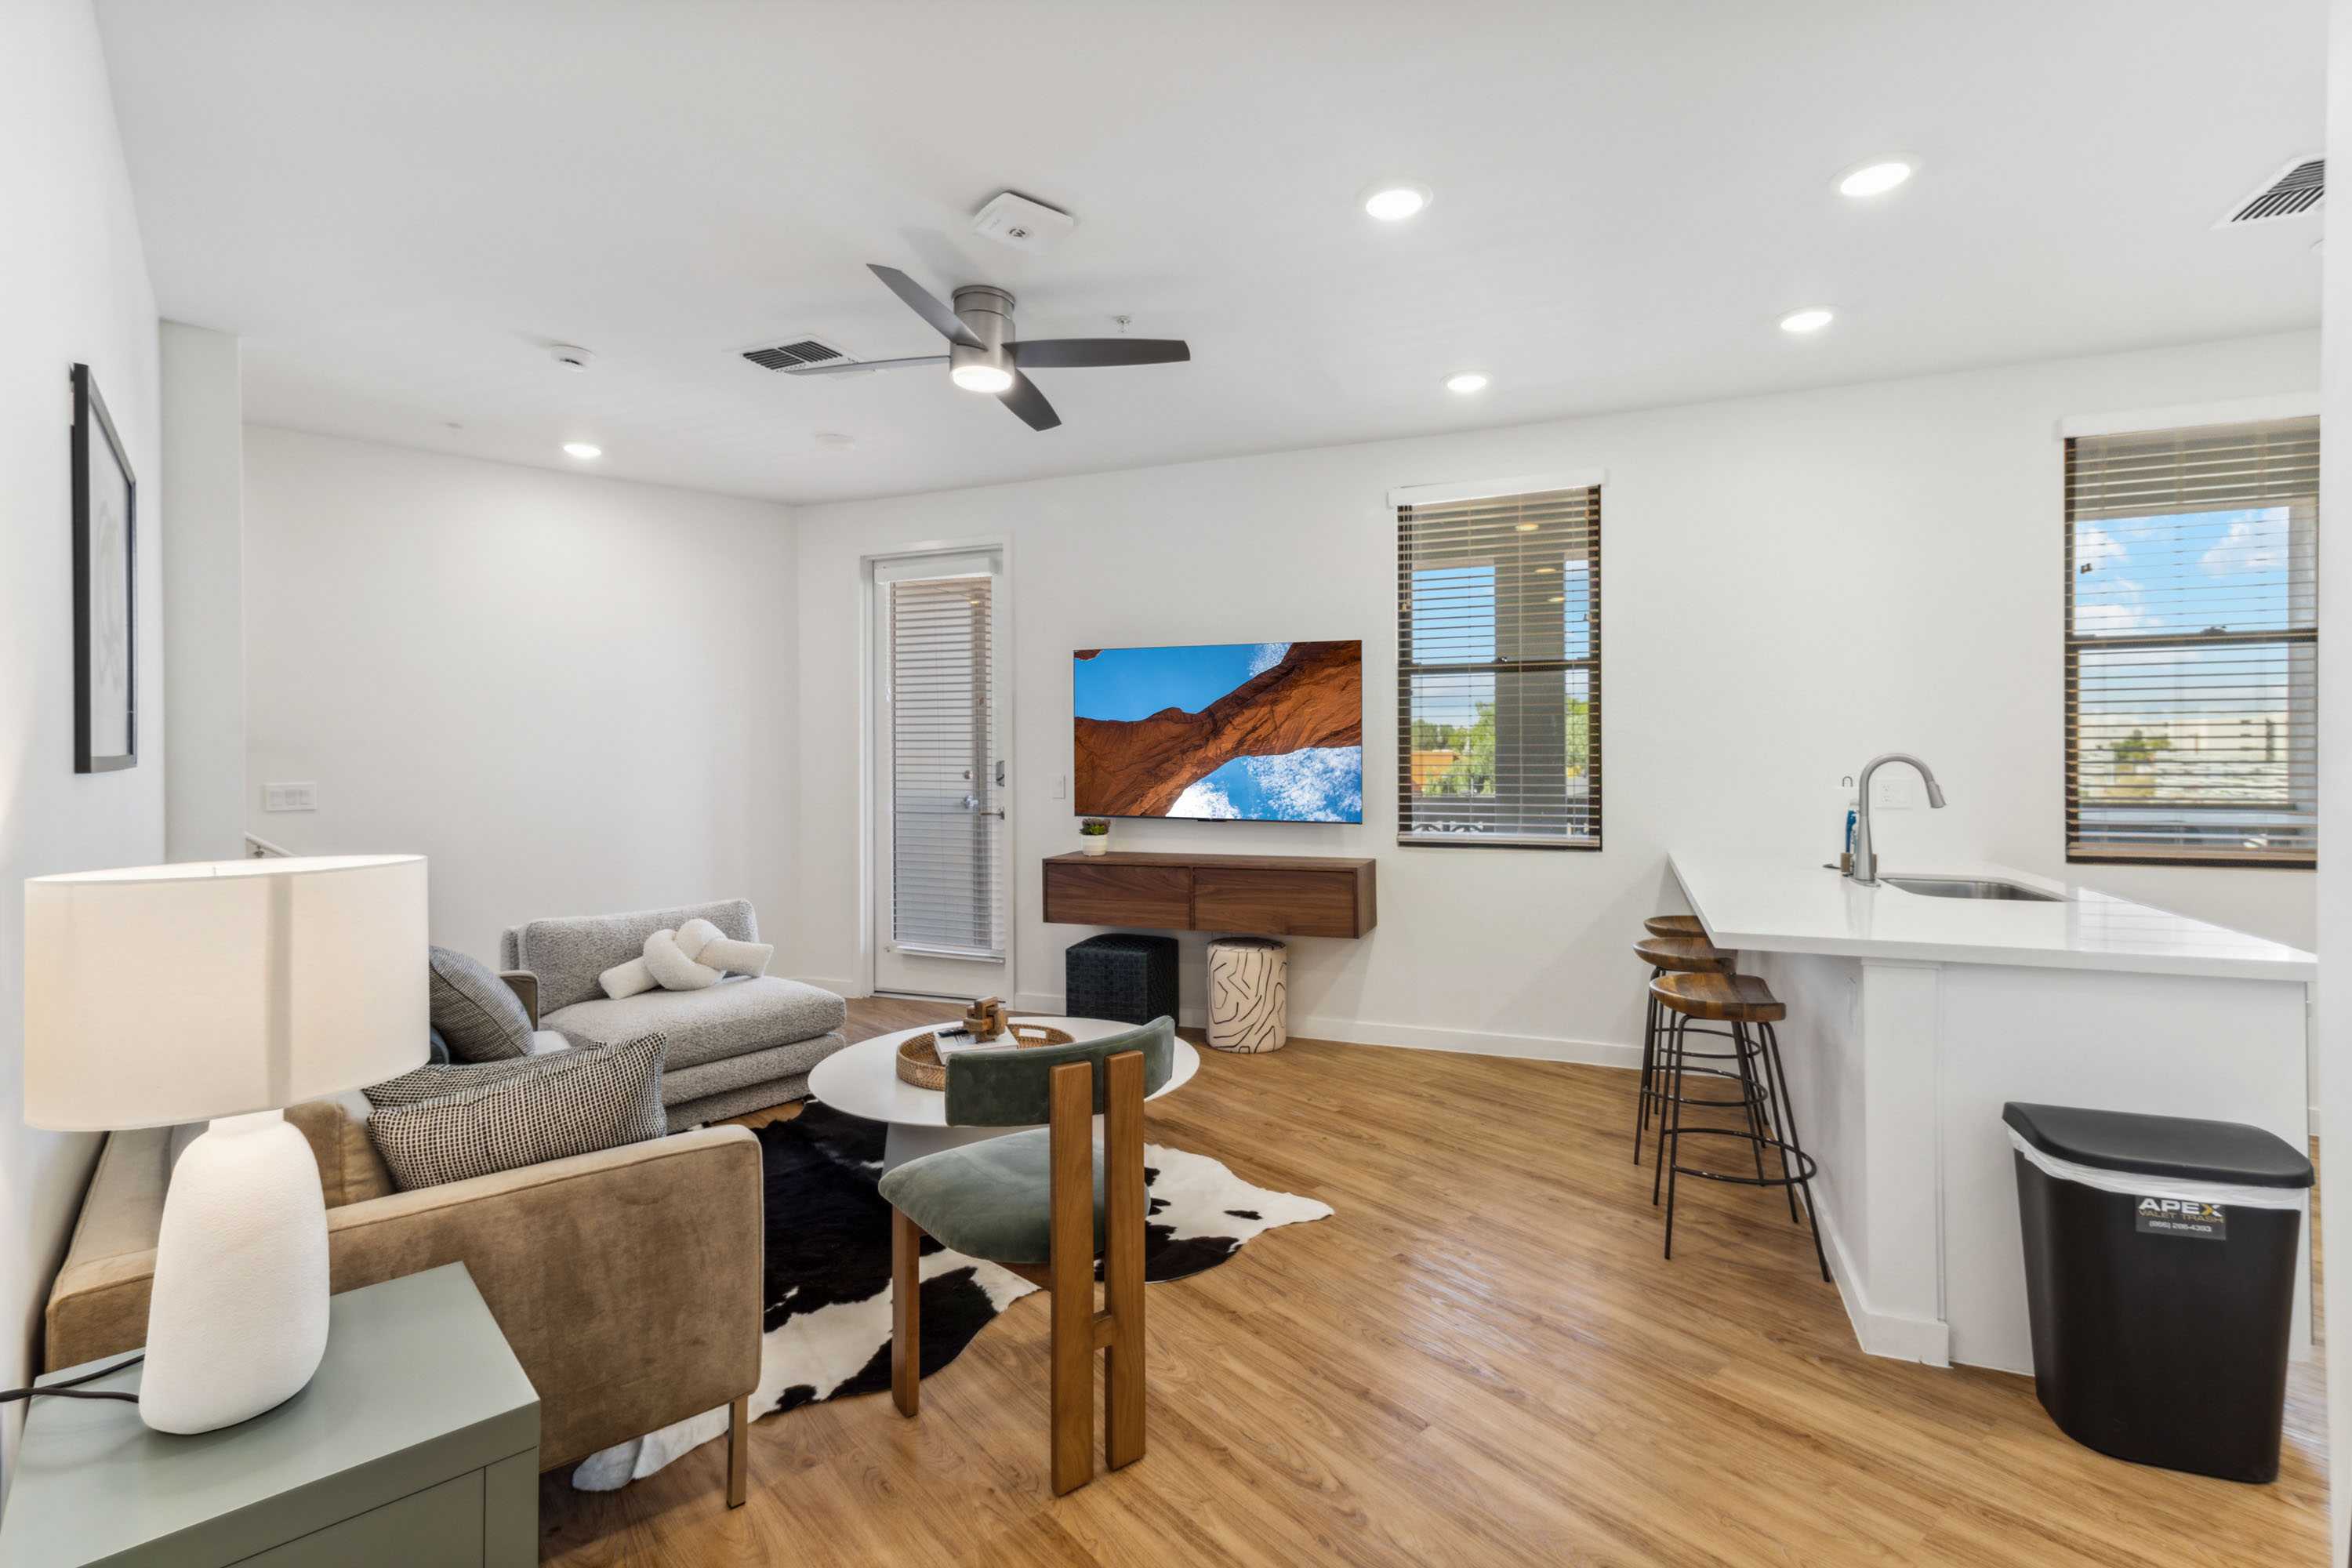
[[[2310,980],[2317,973],[2317,959],[2300,947],[2009,865],[1882,860],[1879,875],[1999,877],[2065,900],[1929,898],[1884,884],[1870,889],[1804,856],[1689,851],[1668,856],[1668,863],[1717,947],[2256,980]]]

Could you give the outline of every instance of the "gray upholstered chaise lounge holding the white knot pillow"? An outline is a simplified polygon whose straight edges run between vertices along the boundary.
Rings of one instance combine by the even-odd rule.
[[[797,1100],[809,1093],[809,1067],[849,1044],[840,1032],[849,1013],[842,999],[800,980],[727,976],[694,992],[654,990],[621,1001],[604,994],[597,976],[637,957],[654,931],[696,914],[736,940],[760,940],[760,917],[743,898],[534,919],[499,938],[501,966],[536,976],[536,1027],[560,1030],[574,1044],[637,1039],[647,1030],[668,1037],[661,1105],[673,1133]]]

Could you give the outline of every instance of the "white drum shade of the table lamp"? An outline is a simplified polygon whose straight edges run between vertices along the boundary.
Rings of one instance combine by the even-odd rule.
[[[428,1056],[423,856],[202,860],[24,884],[24,1117],[285,1110]]]

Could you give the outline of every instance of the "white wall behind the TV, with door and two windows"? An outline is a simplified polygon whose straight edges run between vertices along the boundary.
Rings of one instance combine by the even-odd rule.
[[[1860,329],[1860,327],[1856,327]],[[1832,856],[1839,776],[1915,750],[1950,809],[1886,813],[1903,863],[2063,870],[2060,444],[2067,414],[2310,393],[2293,334],[1510,430],[804,508],[800,522],[800,969],[856,983],[858,557],[1011,543],[1018,992],[1061,992],[1037,860],[1077,844],[1070,649],[1364,639],[1367,823],[1120,823],[1124,849],[1381,860],[1362,943],[1301,940],[1303,1034],[1618,1060],[1639,1027],[1639,919],[1665,851]],[[1108,395],[1120,395],[1110,388]],[[1007,440],[1028,437],[1018,430]],[[1606,849],[1397,849],[1395,484],[1606,468]],[[2089,867],[2084,867],[2089,870]],[[1828,875],[1828,872],[1823,872]],[[2096,870],[2093,884],[2310,945],[2307,872]],[[1200,938],[1185,947],[1200,997]]]

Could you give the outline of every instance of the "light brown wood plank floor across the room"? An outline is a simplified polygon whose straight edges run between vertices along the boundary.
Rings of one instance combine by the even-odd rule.
[[[851,1032],[941,1016],[854,1001]],[[1145,1135],[1338,1215],[1150,1288],[1138,1465],[1049,1493],[1040,1293],[920,1420],[870,1396],[757,1422],[739,1512],[724,1443],[609,1495],[548,1476],[543,1561],[2321,1563],[2317,1366],[2274,1486],[2107,1460],[2025,1378],[1863,1356],[1773,1194],[1698,1185],[1661,1262],[1630,1093],[1479,1056],[1204,1053]]]

